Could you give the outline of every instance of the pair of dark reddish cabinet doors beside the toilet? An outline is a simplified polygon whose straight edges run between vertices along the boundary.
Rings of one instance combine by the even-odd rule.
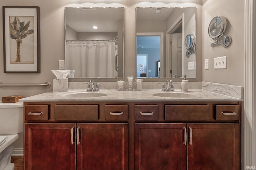
[[[128,170],[128,123],[26,123],[26,170]]]

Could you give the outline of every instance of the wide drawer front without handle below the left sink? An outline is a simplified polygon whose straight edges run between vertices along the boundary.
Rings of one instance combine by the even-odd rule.
[[[55,105],[55,120],[98,120],[99,106],[96,105]]]

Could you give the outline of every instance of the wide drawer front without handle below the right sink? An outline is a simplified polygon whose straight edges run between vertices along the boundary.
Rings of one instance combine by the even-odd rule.
[[[209,120],[209,105],[165,105],[165,120]]]

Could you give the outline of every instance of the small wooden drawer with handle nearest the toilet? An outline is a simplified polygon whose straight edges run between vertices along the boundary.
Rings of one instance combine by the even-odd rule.
[[[48,105],[26,105],[25,120],[49,120]]]

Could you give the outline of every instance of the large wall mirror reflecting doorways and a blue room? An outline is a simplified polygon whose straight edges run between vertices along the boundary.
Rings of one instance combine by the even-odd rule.
[[[196,7],[137,7],[136,34],[137,77],[196,78],[196,53],[184,45],[187,35],[196,44]]]

